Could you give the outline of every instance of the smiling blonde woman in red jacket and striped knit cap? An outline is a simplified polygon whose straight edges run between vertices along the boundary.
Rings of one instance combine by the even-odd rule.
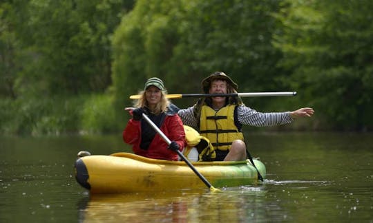
[[[140,95],[135,108],[126,107],[126,111],[129,111],[133,118],[128,121],[123,131],[124,142],[133,145],[133,152],[137,155],[161,160],[178,160],[176,151],[184,148],[184,127],[178,116],[178,107],[166,98],[163,81],[156,77],[149,78]],[[142,119],[143,113],[149,116],[171,140],[170,145],[167,145],[153,127]]]

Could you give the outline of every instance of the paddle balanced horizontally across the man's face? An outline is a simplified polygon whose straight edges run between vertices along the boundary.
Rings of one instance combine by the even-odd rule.
[[[251,92],[251,93],[231,93],[231,94],[167,94],[170,99],[176,98],[202,98],[202,97],[270,97],[270,96],[296,96],[296,92]],[[140,94],[131,95],[130,99],[139,99]]]

